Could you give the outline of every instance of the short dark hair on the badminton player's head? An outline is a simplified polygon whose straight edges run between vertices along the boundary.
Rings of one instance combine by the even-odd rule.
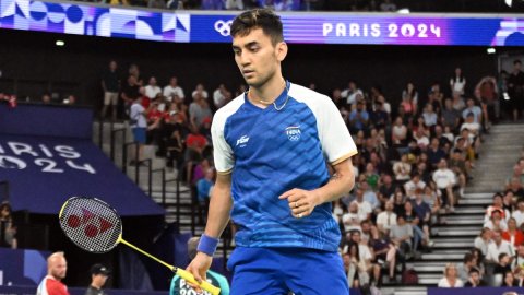
[[[246,36],[251,30],[262,28],[273,45],[284,40],[281,16],[270,9],[253,9],[239,14],[231,24],[231,37]]]

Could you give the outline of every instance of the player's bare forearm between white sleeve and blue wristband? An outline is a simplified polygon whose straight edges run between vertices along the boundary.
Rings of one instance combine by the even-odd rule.
[[[210,201],[210,213],[205,225],[205,235],[218,238],[229,222],[231,210],[231,187],[225,184],[216,184]]]

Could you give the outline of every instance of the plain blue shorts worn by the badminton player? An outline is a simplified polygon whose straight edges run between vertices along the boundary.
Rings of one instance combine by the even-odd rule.
[[[347,275],[337,252],[307,248],[237,247],[227,268],[231,295],[347,295]]]

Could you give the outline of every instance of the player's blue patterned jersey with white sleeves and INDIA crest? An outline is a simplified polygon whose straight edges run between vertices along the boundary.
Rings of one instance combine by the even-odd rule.
[[[273,105],[260,108],[242,94],[218,109],[212,135],[215,167],[231,175],[231,219],[241,247],[301,247],[336,251],[341,233],[324,203],[303,219],[278,196],[329,181],[332,165],[357,149],[332,101],[288,83]],[[286,103],[286,98],[288,101]]]

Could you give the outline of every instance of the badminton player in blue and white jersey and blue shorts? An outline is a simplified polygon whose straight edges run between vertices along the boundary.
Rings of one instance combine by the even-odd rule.
[[[276,14],[243,12],[231,36],[249,91],[214,116],[218,176],[188,271],[205,278],[231,216],[231,294],[348,294],[331,202],[354,185],[355,143],[327,96],[284,79],[287,45]]]

